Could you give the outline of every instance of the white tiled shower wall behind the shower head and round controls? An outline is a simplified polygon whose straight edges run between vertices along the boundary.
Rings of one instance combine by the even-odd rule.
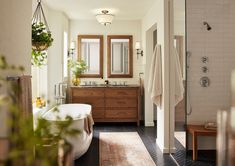
[[[235,1],[186,0],[189,102],[188,123],[216,121],[219,109],[230,108],[230,76],[235,69]],[[206,30],[203,21],[212,29]],[[207,56],[208,63],[201,58]],[[202,66],[209,68],[203,73]],[[201,87],[200,78],[208,76],[209,87]],[[188,110],[189,112],[190,110]]]

